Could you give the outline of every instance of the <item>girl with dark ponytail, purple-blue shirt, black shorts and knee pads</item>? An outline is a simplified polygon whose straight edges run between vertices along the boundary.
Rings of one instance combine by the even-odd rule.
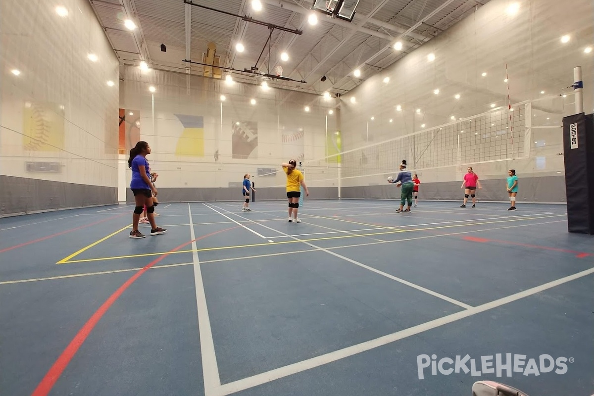
[[[131,238],[144,238],[144,235],[138,230],[138,221],[140,221],[140,214],[143,213],[145,205],[147,218],[151,225],[150,235],[165,234],[167,232],[166,229],[157,227],[154,221],[153,194],[156,197],[158,191],[150,180],[149,162],[146,159],[146,156],[150,153],[149,144],[140,141],[130,150],[130,157],[128,158],[128,167],[132,169],[130,189],[134,193],[135,201],[134,213],[132,214],[132,231],[130,232]]]

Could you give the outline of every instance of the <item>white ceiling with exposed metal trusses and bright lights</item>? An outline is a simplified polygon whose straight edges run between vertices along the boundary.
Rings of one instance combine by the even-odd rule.
[[[252,0],[193,0],[194,4],[246,15],[254,20],[302,31],[294,34],[274,30],[269,47],[264,47],[269,30],[266,26],[242,18],[185,4],[184,0],[89,0],[97,18],[123,64],[185,71],[201,75],[210,42],[216,44],[220,65],[243,71],[256,65],[259,72],[274,74],[282,66],[282,80],[270,85],[311,93],[331,91],[346,93],[366,78],[393,64],[456,24],[489,0],[361,0],[351,23],[317,13],[318,23],[308,23],[311,0],[260,0],[263,8],[254,11]],[[137,29],[129,31],[124,20]],[[402,50],[392,46],[403,43]],[[235,50],[241,42],[245,50]],[[167,51],[162,52],[164,43]],[[289,60],[283,62],[285,51]],[[356,78],[353,70],[359,68]],[[326,76],[326,81],[320,78]],[[236,81],[254,80],[254,76],[233,73]],[[260,77],[258,80],[262,80]],[[305,81],[298,83],[297,81]]]

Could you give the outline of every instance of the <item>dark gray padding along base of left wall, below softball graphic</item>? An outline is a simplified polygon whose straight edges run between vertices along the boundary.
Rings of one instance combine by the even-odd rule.
[[[0,175],[0,216],[118,204],[118,188]]]

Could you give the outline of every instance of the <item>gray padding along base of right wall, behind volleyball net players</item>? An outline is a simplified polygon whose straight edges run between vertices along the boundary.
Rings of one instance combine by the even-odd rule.
[[[505,179],[481,180],[481,189],[476,190],[480,201],[509,201],[505,191]],[[462,201],[464,189],[460,182],[422,183],[419,186],[419,199],[440,201]],[[520,178],[518,180],[518,202],[565,202],[565,176],[542,176]],[[400,188],[396,185],[343,187],[342,198],[400,199]]]

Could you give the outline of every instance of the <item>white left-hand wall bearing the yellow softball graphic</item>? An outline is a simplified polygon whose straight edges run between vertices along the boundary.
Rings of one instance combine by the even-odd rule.
[[[116,187],[118,59],[88,1],[60,4],[65,17],[55,2],[1,2],[0,172]],[[27,162],[59,171],[27,172]]]

